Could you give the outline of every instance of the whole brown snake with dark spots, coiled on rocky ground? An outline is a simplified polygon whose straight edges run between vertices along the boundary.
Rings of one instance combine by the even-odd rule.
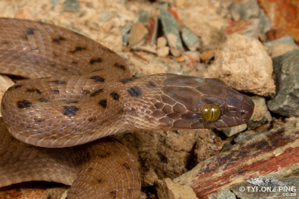
[[[230,127],[247,122],[254,109],[219,79],[131,77],[112,50],[42,22],[0,19],[0,69],[37,78],[16,83],[2,98],[0,187],[55,181],[71,185],[67,198],[140,198],[137,163],[106,136]]]

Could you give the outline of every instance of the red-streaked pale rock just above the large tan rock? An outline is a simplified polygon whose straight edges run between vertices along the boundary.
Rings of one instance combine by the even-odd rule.
[[[229,26],[223,27],[224,33],[228,36],[233,33],[239,33],[252,38],[258,38],[260,19],[244,19],[237,22],[231,22]]]

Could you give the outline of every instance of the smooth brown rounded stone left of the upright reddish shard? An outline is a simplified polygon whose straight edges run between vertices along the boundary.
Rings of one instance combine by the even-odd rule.
[[[136,22],[132,25],[131,31],[129,33],[129,45],[134,46],[145,41],[148,35],[148,30],[141,22]]]

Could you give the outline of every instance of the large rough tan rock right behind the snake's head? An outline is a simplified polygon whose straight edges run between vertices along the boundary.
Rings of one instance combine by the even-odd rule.
[[[261,96],[275,94],[272,60],[257,39],[233,34],[216,51],[205,77],[223,79],[230,87]]]

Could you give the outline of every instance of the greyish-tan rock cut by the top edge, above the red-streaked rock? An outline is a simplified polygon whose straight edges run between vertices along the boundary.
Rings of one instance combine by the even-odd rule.
[[[239,20],[243,20],[258,17],[260,14],[260,7],[256,0],[233,1],[229,7],[229,11],[239,13]]]

